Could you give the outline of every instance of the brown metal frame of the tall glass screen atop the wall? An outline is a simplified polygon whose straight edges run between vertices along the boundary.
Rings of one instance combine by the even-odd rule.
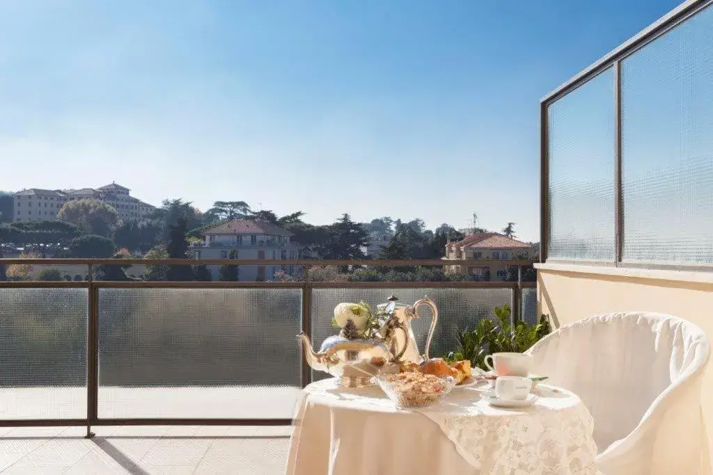
[[[655,41],[660,36],[665,35],[673,28],[684,23],[700,11],[713,5],[713,0],[687,0],[676,9],[645,28],[629,41],[623,43],[615,50],[608,53],[599,61],[593,63],[584,71],[570,78],[566,83],[546,95],[540,100],[540,262],[548,261],[548,243],[550,237],[549,221],[549,124],[548,108],[553,103],[565,97],[582,85],[588,83],[600,73],[612,69],[614,75],[614,182],[615,182],[615,259],[614,261],[584,261],[573,259],[550,259],[550,262],[573,263],[580,265],[595,266],[616,266],[624,268],[655,268],[662,270],[686,270],[686,271],[713,271],[713,266],[696,264],[667,263],[665,261],[642,261],[624,262],[622,261],[624,249],[624,216],[623,216],[623,194],[622,194],[622,73],[621,64],[627,57],[639,51],[647,44]]]

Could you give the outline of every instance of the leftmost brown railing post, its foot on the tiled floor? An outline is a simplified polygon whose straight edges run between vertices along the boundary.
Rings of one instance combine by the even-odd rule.
[[[92,265],[88,264],[88,296],[87,296],[87,434],[86,438],[94,437],[91,425],[98,419],[98,376],[99,376],[99,345],[98,345],[98,291],[93,281]]]

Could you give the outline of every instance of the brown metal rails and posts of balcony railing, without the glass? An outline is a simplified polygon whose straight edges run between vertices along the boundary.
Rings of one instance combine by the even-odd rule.
[[[87,415],[84,419],[0,419],[0,427],[36,427],[36,426],[86,426],[86,437],[93,437],[92,426],[106,425],[250,425],[276,426],[292,424],[292,419],[250,419],[250,418],[104,418],[98,414],[98,356],[99,356],[99,304],[98,293],[101,288],[299,288],[302,290],[301,330],[312,334],[312,291],[315,288],[506,288],[513,291],[513,318],[521,318],[522,289],[535,288],[535,282],[520,280],[522,266],[532,266],[533,260],[307,260],[307,259],[0,259],[0,266],[11,264],[35,264],[42,266],[86,265],[88,281],[0,281],[1,288],[86,288],[88,325],[87,346]],[[221,281],[95,281],[93,274],[96,266],[101,265],[183,265],[197,264],[237,266],[303,266],[302,281],[289,282],[221,282]],[[438,281],[438,282],[318,282],[309,281],[307,269],[315,266],[518,266],[518,281]],[[312,370],[301,355],[300,382],[302,387],[312,382]]]

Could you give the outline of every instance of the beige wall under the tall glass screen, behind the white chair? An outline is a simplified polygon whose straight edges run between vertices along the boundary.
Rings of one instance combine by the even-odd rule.
[[[713,282],[671,280],[676,275],[672,271],[646,272],[658,278],[548,271],[540,268],[538,304],[542,313],[550,315],[555,326],[597,313],[669,313],[695,323],[713,341]],[[689,273],[688,277],[695,276]],[[709,365],[702,391],[704,418],[713,453],[713,364]]]

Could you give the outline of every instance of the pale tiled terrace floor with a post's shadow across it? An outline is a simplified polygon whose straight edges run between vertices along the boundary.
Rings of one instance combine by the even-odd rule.
[[[282,474],[290,427],[0,428],[2,474]]]

